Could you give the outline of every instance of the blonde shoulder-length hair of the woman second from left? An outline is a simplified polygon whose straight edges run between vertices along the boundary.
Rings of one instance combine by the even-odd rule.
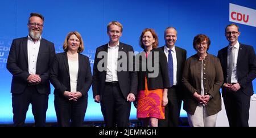
[[[63,44],[63,50],[64,50],[65,52],[68,51],[68,40],[69,40],[69,38],[70,38],[72,35],[75,35],[77,38],[79,38],[80,45],[79,45],[79,49],[77,49],[77,53],[81,53],[82,51],[84,51],[84,41],[82,41],[82,37],[81,37],[80,33],[77,32],[77,31],[69,32],[69,33],[68,33],[67,37],[65,38],[64,44]]]

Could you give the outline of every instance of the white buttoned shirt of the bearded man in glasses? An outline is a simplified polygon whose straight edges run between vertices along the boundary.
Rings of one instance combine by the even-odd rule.
[[[38,53],[41,40],[42,37],[40,37],[38,41],[34,42],[29,35],[27,37],[27,59],[29,74],[36,74],[36,62],[38,61]]]

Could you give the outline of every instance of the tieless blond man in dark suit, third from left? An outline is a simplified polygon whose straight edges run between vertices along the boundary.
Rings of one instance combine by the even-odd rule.
[[[138,79],[133,56],[129,59],[133,47],[119,41],[122,31],[122,24],[118,21],[108,24],[109,43],[97,48],[93,65],[93,97],[101,103],[107,127],[128,126],[131,102],[135,101],[137,94]],[[130,63],[133,67],[128,68]],[[121,66],[124,70],[120,70]]]

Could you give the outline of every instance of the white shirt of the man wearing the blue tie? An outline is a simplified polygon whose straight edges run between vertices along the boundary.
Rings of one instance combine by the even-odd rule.
[[[167,62],[168,62],[168,54],[169,54],[169,48],[167,46],[164,46],[164,53],[166,54]],[[175,46],[171,49],[172,51],[172,61],[174,63],[174,85],[177,85],[177,55]]]

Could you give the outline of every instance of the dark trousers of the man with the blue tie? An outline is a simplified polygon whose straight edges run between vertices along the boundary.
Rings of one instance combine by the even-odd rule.
[[[168,104],[164,107],[165,119],[158,120],[159,127],[178,127],[181,108],[181,91],[172,86],[168,89]]]

